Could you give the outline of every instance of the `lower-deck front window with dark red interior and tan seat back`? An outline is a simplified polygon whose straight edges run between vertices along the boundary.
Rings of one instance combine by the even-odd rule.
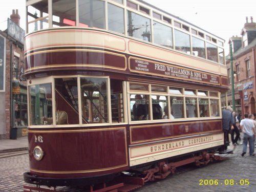
[[[56,124],[79,124],[77,78],[55,78]]]

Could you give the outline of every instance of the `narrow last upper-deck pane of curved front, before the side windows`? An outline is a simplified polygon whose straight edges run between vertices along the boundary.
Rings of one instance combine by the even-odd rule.
[[[108,4],[109,30],[124,34],[124,11],[113,4]]]

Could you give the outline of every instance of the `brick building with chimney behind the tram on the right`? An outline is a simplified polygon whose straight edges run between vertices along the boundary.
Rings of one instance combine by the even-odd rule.
[[[234,78],[234,96],[236,111],[255,114],[256,106],[256,23],[253,18],[246,17],[246,23],[241,31],[241,37],[231,37],[229,44],[232,45],[233,71],[230,70],[230,58],[226,61],[228,67],[229,83]],[[228,105],[232,106],[231,84],[228,92]]]

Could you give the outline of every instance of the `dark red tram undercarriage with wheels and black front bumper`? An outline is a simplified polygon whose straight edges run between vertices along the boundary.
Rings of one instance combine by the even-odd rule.
[[[136,188],[143,186],[147,182],[152,182],[159,179],[165,179],[167,176],[175,173],[177,167],[195,163],[196,166],[207,165],[210,162],[221,161],[225,158],[218,154],[232,154],[233,151],[229,150],[225,153],[219,153],[218,151],[203,151],[197,154],[191,154],[190,157],[181,158],[175,162],[170,160],[162,160],[155,162],[151,165],[145,165],[143,167],[135,167],[129,172],[122,172],[120,174],[113,174],[108,176],[100,176],[94,178],[79,178],[79,179],[50,179],[50,178],[38,178],[30,176],[28,173],[24,174],[24,180],[27,183],[36,184],[33,186],[24,186],[24,191],[61,191],[57,186],[82,186],[86,185],[88,181],[97,184],[90,185],[90,189],[86,191],[90,192],[104,192],[104,191],[132,191]],[[89,179],[89,180],[88,180]],[[98,183],[105,179],[104,182]],[[50,181],[51,180],[51,181]],[[87,182],[85,182],[87,181]],[[51,184],[50,184],[51,183]],[[54,183],[54,184],[53,184]],[[50,188],[41,188],[41,185],[48,186]]]

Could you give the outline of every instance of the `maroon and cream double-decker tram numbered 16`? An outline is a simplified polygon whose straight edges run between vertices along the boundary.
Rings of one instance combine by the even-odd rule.
[[[143,185],[219,158],[222,38],[140,0],[26,6],[27,183]]]

